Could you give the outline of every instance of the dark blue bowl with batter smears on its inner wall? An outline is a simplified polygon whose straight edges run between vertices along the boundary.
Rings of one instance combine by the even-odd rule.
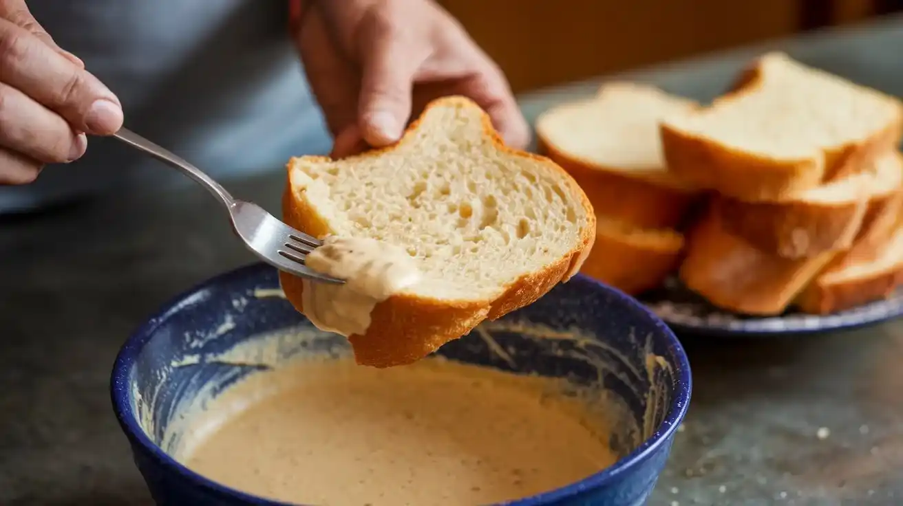
[[[262,290],[272,292],[277,287],[276,272],[259,264],[207,281],[150,318],[117,356],[111,383],[113,407],[157,504],[280,504],[192,473],[161,447],[166,446],[168,424],[178,417],[177,406],[191,403],[201,385],[218,382],[221,389],[259,370],[212,361],[173,367],[173,361],[221,353],[281,329],[310,326],[285,299],[262,296]],[[477,336],[444,345],[439,354],[499,370],[601,386],[623,400],[631,422],[623,425],[633,427],[612,434],[611,446],[620,456],[615,465],[580,482],[508,504],[643,504],[665,465],[690,401],[690,365],[674,334],[636,300],[582,276],[499,322],[489,329],[498,345],[509,350],[507,356],[499,356],[496,346]],[[510,329],[518,326],[548,332],[577,329],[591,337],[536,338]],[[335,340],[343,344],[339,336]],[[649,354],[661,359],[647,361]]]

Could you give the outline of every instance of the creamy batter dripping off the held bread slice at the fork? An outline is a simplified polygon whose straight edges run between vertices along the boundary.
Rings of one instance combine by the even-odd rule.
[[[378,302],[421,280],[414,258],[403,248],[366,237],[326,237],[304,263],[345,280],[303,281],[302,304],[313,325],[346,337],[366,333]]]

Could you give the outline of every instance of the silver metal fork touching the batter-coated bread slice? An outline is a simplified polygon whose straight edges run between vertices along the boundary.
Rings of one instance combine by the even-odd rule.
[[[256,254],[260,260],[269,263],[276,269],[310,280],[328,283],[345,282],[313,271],[304,265],[307,253],[311,253],[314,248],[323,245],[319,239],[285,225],[267,213],[263,207],[257,206],[253,202],[232,198],[225,188],[200,169],[169,150],[144,139],[141,135],[120,128],[114,136],[123,143],[182,171],[183,174],[200,183],[200,186],[218,198],[219,202],[228,210],[232,220],[232,230],[244,241],[247,249]]]

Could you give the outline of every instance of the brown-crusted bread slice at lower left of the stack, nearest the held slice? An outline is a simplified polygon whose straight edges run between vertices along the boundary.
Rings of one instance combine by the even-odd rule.
[[[656,288],[680,264],[684,236],[596,216],[596,243],[583,274],[630,295]]]

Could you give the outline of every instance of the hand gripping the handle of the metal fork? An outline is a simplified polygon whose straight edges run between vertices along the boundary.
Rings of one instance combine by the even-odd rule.
[[[119,99],[44,32],[24,0],[0,0],[0,184],[88,149],[85,133],[115,133]]]

